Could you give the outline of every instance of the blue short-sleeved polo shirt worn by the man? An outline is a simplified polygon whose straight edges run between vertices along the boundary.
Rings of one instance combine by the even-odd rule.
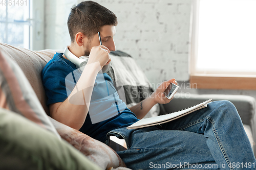
[[[41,72],[42,83],[48,97],[47,105],[64,102],[81,76],[75,64],[62,55],[63,53],[56,53]],[[111,130],[129,126],[138,120],[119,98],[110,76],[105,73],[98,74],[89,112],[79,131],[104,142],[106,134]]]

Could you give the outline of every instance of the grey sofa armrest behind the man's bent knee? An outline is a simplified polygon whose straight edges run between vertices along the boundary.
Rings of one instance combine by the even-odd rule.
[[[197,105],[203,101],[212,99],[212,101],[227,100],[236,106],[238,113],[244,125],[249,125],[253,137],[256,141],[256,101],[247,95],[228,95],[228,94],[188,94],[176,93],[175,98],[170,103],[163,105],[168,113],[172,113],[184,108]],[[256,153],[256,147],[254,147]]]

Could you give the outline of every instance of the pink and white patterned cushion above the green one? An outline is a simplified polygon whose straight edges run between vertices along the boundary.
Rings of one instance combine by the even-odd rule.
[[[0,51],[0,107],[23,115],[56,136],[56,129],[19,66]]]

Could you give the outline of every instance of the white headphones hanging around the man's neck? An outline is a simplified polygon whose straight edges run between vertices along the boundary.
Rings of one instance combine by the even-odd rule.
[[[86,66],[86,64],[89,60],[89,56],[81,56],[81,57],[77,58],[74,54],[72,54],[69,51],[69,46],[67,46],[65,48],[64,55],[67,57],[67,59],[69,59],[69,61],[71,61],[72,63],[74,63],[76,65],[76,68],[78,68],[78,70],[81,73],[83,71],[84,66]],[[110,66],[111,66],[111,62],[108,65],[104,65],[103,68],[101,69],[102,73],[108,72],[110,70]]]

